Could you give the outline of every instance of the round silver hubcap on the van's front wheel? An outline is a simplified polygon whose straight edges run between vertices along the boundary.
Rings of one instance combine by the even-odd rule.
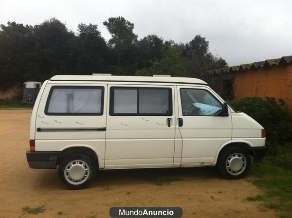
[[[240,153],[230,155],[226,160],[226,170],[231,175],[241,174],[246,167],[245,156]]]

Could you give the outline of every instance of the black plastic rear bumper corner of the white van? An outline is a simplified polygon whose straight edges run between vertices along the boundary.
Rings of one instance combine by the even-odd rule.
[[[27,151],[26,159],[30,168],[55,169],[61,151]]]

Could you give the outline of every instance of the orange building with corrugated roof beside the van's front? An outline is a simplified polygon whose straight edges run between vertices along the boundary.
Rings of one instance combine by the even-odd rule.
[[[292,113],[292,56],[241,64],[209,72],[210,85],[225,99],[274,97]]]

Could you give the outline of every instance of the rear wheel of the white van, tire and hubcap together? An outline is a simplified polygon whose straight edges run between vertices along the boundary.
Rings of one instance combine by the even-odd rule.
[[[61,182],[71,190],[84,189],[94,179],[97,164],[86,154],[74,153],[64,158],[58,168]]]

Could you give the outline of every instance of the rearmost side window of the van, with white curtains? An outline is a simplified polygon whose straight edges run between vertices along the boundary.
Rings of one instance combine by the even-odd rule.
[[[46,115],[102,115],[104,88],[94,86],[53,86]]]

